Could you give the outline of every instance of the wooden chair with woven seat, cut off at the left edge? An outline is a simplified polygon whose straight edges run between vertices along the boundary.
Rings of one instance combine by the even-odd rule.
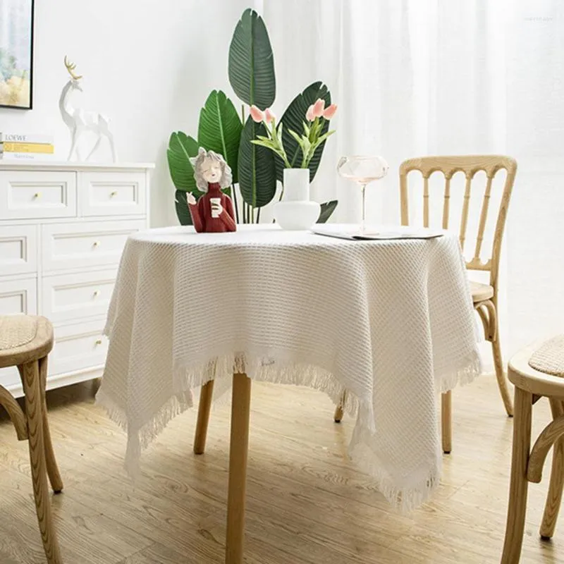
[[[47,474],[56,494],[63,482],[56,465],[45,403],[47,355],[53,348],[53,327],[44,317],[0,316],[0,368],[17,366],[25,393],[25,413],[10,393],[0,386],[2,405],[20,441],[30,445],[33,496],[47,562],[62,564],[51,518]]]

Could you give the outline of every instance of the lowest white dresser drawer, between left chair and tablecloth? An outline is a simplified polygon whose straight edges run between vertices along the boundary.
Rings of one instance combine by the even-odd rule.
[[[102,336],[104,319],[55,327],[55,344],[49,355],[49,375],[66,374],[106,362],[108,339]]]

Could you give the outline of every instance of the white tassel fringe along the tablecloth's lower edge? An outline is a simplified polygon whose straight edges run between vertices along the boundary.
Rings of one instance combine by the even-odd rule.
[[[449,391],[455,386],[470,384],[479,375],[480,370],[481,361],[479,356],[475,355],[469,360],[467,367],[439,379],[441,392]],[[284,365],[272,358],[265,361],[264,357],[249,358],[243,354],[231,354],[197,368],[190,369],[179,365],[175,372],[176,381],[180,382],[184,389],[164,403],[154,417],[140,429],[128,429],[125,413],[111,401],[111,398],[104,395],[103,390],[97,395],[97,403],[104,407],[109,418],[129,434],[125,470],[134,480],[139,477],[138,461],[141,451],[157,438],[174,417],[193,406],[192,388],[203,386],[214,379],[225,381],[231,379],[232,374],[240,373],[247,374],[255,381],[314,388],[326,393],[336,405],[342,402],[344,396],[343,411],[351,417],[357,417],[355,432],[349,446],[350,459],[360,467],[360,470],[367,472],[374,479],[377,489],[400,512],[410,511],[427,501],[439,485],[440,462],[436,470],[407,486],[398,487],[396,481],[388,478],[382,471],[381,462],[374,458],[374,452],[367,446],[369,435],[377,432],[374,428],[372,405],[361,403],[350,391],[345,393],[345,387],[325,369],[311,364]]]

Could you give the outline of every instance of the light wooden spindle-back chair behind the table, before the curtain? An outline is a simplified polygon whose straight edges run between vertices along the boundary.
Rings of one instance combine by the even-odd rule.
[[[482,254],[482,242],[484,240],[484,231],[486,228],[486,220],[489,212],[489,204],[491,198],[492,181],[496,173],[501,169],[507,171],[503,194],[501,196],[501,204],[498,209],[496,228],[494,232],[494,242],[492,245],[489,259],[482,262],[480,255]],[[445,178],[445,188],[443,191],[443,213],[442,228],[448,229],[450,216],[450,180],[455,173],[459,171],[464,173],[465,191],[462,204],[462,219],[460,221],[460,246],[464,249],[467,235],[468,215],[470,213],[470,197],[472,195],[472,180],[479,171],[485,171],[487,182],[484,192],[484,200],[482,201],[482,211],[479,217],[479,226],[477,231],[476,243],[474,245],[473,257],[467,262],[466,267],[469,270],[488,271],[489,284],[477,282],[470,283],[470,291],[472,293],[472,301],[474,309],[477,310],[486,339],[491,342],[491,348],[494,353],[494,364],[496,367],[496,376],[498,380],[499,391],[505,405],[505,411],[509,417],[513,416],[513,405],[505,379],[503,370],[503,360],[501,357],[501,348],[498,338],[498,271],[499,257],[501,252],[501,240],[503,238],[503,230],[505,228],[505,218],[508,212],[511,190],[513,190],[513,182],[515,173],[517,172],[517,163],[511,157],[503,157],[501,155],[465,155],[460,157],[420,157],[417,159],[408,159],[400,165],[400,204],[401,204],[401,224],[409,225],[409,197],[407,191],[407,176],[412,171],[419,171],[423,177],[423,224],[429,227],[429,177],[435,172],[443,173]],[[335,421],[340,422],[343,417],[343,408],[338,405],[335,412]],[[452,403],[450,392],[444,393],[441,399],[441,429],[443,437],[443,451],[450,453],[452,449]]]

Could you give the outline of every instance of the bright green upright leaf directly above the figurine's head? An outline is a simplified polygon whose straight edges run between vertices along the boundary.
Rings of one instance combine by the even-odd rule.
[[[237,180],[237,159],[243,124],[233,102],[219,90],[213,90],[200,111],[198,143],[207,151],[223,155]]]

